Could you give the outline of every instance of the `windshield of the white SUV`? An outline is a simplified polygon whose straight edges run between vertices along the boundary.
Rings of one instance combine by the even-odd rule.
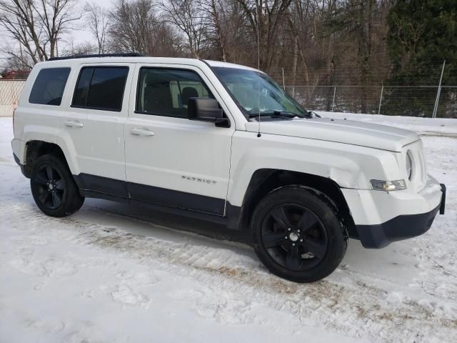
[[[266,74],[238,68],[214,67],[213,70],[245,114],[259,111],[261,114],[274,111],[307,114],[306,109]]]

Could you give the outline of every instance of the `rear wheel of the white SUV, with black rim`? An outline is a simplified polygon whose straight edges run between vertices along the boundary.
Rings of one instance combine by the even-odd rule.
[[[66,217],[84,203],[66,162],[54,154],[36,159],[30,187],[36,206],[51,217]]]

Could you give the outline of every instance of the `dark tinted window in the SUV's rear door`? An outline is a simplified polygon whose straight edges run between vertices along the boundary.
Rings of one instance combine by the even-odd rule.
[[[82,68],[71,106],[121,111],[128,74],[127,66]]]

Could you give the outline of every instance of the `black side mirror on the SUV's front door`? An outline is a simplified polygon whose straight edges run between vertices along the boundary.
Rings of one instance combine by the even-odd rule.
[[[216,126],[229,127],[230,121],[224,117],[216,99],[189,98],[187,102],[187,118],[189,120],[209,121]]]

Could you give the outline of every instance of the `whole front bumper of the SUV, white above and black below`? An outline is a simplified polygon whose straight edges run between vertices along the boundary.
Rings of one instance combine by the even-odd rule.
[[[391,242],[424,234],[446,206],[446,187],[428,177],[417,194],[342,189],[363,247],[382,248]]]

